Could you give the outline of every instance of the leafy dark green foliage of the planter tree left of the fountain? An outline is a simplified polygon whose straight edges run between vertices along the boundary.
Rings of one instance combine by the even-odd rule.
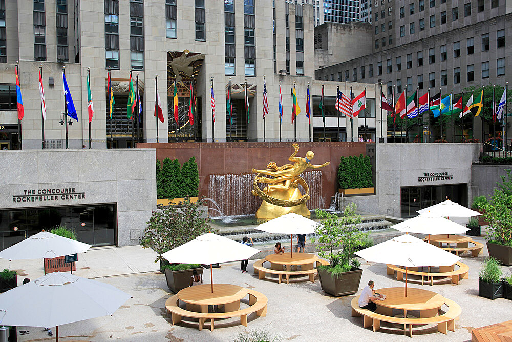
[[[146,222],[142,247],[152,248],[158,254],[163,254],[206,233],[210,227],[206,219],[198,214],[198,207],[201,205],[200,200],[190,203],[188,197],[180,208],[158,205],[158,209],[151,213],[150,220]],[[159,259],[160,256],[155,263]]]

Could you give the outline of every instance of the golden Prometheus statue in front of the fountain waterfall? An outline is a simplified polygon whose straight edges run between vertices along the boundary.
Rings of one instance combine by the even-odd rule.
[[[288,213],[295,213],[303,216],[311,215],[306,207],[306,201],[310,198],[309,187],[300,174],[308,168],[319,169],[329,165],[326,162],[322,165],[313,165],[311,161],[315,154],[312,151],[306,153],[305,158],[296,157],[298,144],[292,144],[295,152],[288,158],[294,164],[285,164],[278,167],[274,162],[267,164],[267,170],[252,169],[257,173],[253,182],[254,196],[260,196],[263,202],[256,211],[257,219],[272,219]],[[270,176],[270,177],[265,177]],[[265,183],[267,186],[262,190],[258,183]],[[302,185],[305,194],[302,194],[298,186]]]

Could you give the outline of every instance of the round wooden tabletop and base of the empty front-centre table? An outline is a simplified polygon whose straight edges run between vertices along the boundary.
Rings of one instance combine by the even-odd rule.
[[[214,292],[211,292],[211,284],[203,284],[187,287],[177,293],[178,299],[184,301],[187,310],[196,312],[208,312],[208,305],[224,306],[224,312],[232,312],[240,309],[240,299],[247,296],[246,288],[232,284],[214,284]]]

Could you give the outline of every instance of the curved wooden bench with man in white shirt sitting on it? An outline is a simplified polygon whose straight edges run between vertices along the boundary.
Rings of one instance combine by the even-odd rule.
[[[373,331],[377,331],[380,329],[380,321],[403,325],[408,324],[410,337],[413,337],[413,325],[437,324],[437,331],[443,334],[446,334],[447,330],[455,331],[455,320],[458,320],[462,313],[462,309],[457,303],[455,303],[455,301],[446,298],[445,304],[448,306],[449,310],[442,315],[428,318],[401,318],[386,316],[372,312],[368,309],[359,308],[358,301],[359,296],[356,296],[350,302],[350,306],[352,307],[352,317],[363,316],[364,328],[372,326]],[[404,331],[404,334],[406,333],[407,331]]]

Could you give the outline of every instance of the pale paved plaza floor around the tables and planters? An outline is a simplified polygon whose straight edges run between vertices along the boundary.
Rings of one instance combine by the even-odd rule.
[[[481,238],[477,239],[484,242]],[[485,255],[487,251],[484,249],[483,255],[479,257],[463,257],[462,261],[470,267],[470,273],[469,279],[463,279],[460,285],[421,286],[417,283],[418,278],[410,277],[409,287],[438,292],[462,307],[462,315],[456,321],[455,332],[449,331],[444,335],[437,332],[436,326],[416,327],[413,340],[467,341],[471,340],[471,329],[510,319],[512,301],[478,297],[478,271]],[[80,255],[74,274],[96,277],[96,280],[111,284],[131,294],[133,298],[113,316],[59,327],[60,337],[67,337],[59,340],[232,341],[239,332],[258,327],[266,327],[283,340],[291,341],[410,340],[410,337],[403,335],[398,325],[382,323],[378,332],[362,328],[362,318],[351,317],[350,300],[353,296],[334,298],[326,295],[318,279],[314,284],[292,280],[288,285],[278,284],[276,279],[259,280],[253,275],[253,260],[249,261],[247,273],[240,271],[238,262],[223,264],[220,269],[214,269],[214,281],[237,284],[264,293],[268,297],[266,317],[251,314],[247,328],[239,325],[239,319],[216,320],[213,332],[208,329],[199,331],[194,320],[173,326],[165,309],[165,300],[171,293],[166,286],[165,276],[157,271],[158,266],[153,263],[155,256],[153,251],[140,247],[92,249],[87,254]],[[6,263],[8,261],[2,260],[0,267],[6,267]],[[11,263],[11,268],[21,269],[22,266],[31,279],[42,275],[42,261]],[[403,281],[396,281],[392,276],[386,275],[386,266],[383,264],[364,263],[362,269],[364,272],[360,290],[368,280],[375,281],[376,289],[404,286]],[[508,275],[512,268],[503,267],[503,270]],[[204,283],[210,283],[210,272],[207,270],[204,272]],[[18,334],[18,341],[51,340],[42,328],[18,327],[19,330],[29,330],[30,333],[23,336]]]

